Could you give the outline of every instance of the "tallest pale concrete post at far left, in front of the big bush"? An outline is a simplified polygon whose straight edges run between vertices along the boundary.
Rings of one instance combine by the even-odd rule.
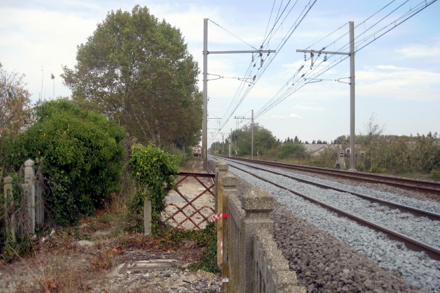
[[[34,184],[34,161],[25,161],[25,198],[28,209],[28,217],[26,219],[26,227],[28,233],[35,233],[35,184]]]

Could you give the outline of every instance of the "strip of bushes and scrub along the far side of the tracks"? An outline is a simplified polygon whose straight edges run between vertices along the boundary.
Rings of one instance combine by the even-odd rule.
[[[370,121],[370,130],[355,137],[355,168],[363,172],[386,173],[400,176],[421,176],[440,180],[440,137],[437,132],[417,134],[416,136],[384,135],[379,127]],[[372,130],[373,129],[373,130]],[[250,157],[250,126],[232,131],[224,142],[212,143],[208,152],[232,156]],[[230,144],[230,142],[232,142]],[[320,152],[308,151],[307,146],[321,145]],[[256,124],[254,126],[254,159],[285,161],[300,165],[335,167],[336,153],[350,147],[349,137],[342,135],[330,143],[327,141],[301,141],[294,139],[281,141],[270,130]],[[311,148],[311,150],[316,150]],[[364,156],[359,156],[363,152]],[[349,157],[346,158],[349,165]]]

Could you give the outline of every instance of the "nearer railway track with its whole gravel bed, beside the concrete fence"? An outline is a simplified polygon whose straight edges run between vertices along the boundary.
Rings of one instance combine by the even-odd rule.
[[[290,270],[296,272],[301,285],[307,286],[309,292],[440,292],[440,261],[436,260],[440,249],[437,215],[430,220],[427,215],[417,215],[416,211],[401,212],[401,207],[385,206],[383,202],[379,204],[357,194],[438,214],[440,204],[432,195],[421,196],[401,189],[395,189],[395,194],[393,188],[385,185],[359,185],[353,184],[355,181],[349,183],[292,172],[285,167],[231,162],[224,157],[221,160],[226,161],[229,171],[239,177],[239,194],[260,187],[274,196],[276,205],[271,214],[275,223],[274,239],[289,261]],[[311,185],[291,177],[318,184]],[[332,211],[324,204],[350,213],[353,218]],[[356,217],[384,226],[397,236],[403,235],[402,238],[412,238],[421,245],[412,245],[406,239],[380,232],[380,228],[360,224],[354,219]],[[397,279],[391,281],[394,278],[391,274],[404,278],[406,285]]]

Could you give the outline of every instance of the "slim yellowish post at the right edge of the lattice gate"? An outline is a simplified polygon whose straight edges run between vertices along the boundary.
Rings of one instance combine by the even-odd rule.
[[[228,172],[228,164],[218,161],[215,164],[215,213],[225,213],[228,210],[223,209],[223,177]],[[221,257],[221,237],[223,237],[223,218],[219,218],[215,224],[217,225],[217,265],[221,268],[223,258]]]

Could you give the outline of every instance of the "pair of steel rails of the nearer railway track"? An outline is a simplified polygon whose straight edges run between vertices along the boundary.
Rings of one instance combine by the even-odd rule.
[[[222,159],[225,161],[229,161],[229,163],[234,162],[229,159],[225,159],[225,158],[222,158]],[[333,212],[338,213],[338,215],[345,216],[345,217],[350,218],[351,220],[354,220],[355,222],[358,222],[362,225],[369,226],[369,228],[373,228],[375,231],[385,233],[386,235],[391,237],[391,239],[395,239],[399,242],[403,242],[404,244],[406,244],[406,247],[411,250],[423,251],[424,253],[427,253],[428,255],[430,255],[430,257],[432,257],[432,259],[440,260],[440,246],[438,246],[438,244],[437,244],[437,246],[434,246],[432,244],[428,244],[426,242],[423,242],[420,239],[416,239],[415,237],[411,237],[410,235],[407,235],[408,233],[405,233],[405,231],[403,231],[403,232],[395,231],[395,230],[393,230],[393,228],[388,228],[383,224],[377,224],[375,221],[368,220],[366,218],[362,218],[362,217],[356,215],[355,212],[340,209],[335,204],[329,204],[327,202],[327,200],[317,199],[314,196],[309,196],[303,192],[298,192],[297,190],[286,187],[285,185],[281,185],[279,183],[276,183],[270,179],[270,176],[259,176],[256,174],[256,172],[254,172],[252,170],[261,170],[262,172],[267,172],[269,174],[273,174],[276,176],[283,176],[284,178],[296,180],[300,183],[305,183],[307,185],[314,185],[316,187],[320,187],[323,189],[331,189],[333,191],[342,192],[344,194],[351,194],[352,196],[362,198],[364,200],[368,200],[369,202],[376,202],[378,204],[386,205],[387,207],[390,207],[391,209],[399,209],[402,211],[406,211],[408,213],[412,213],[412,215],[415,215],[417,217],[429,218],[430,220],[436,221],[437,225],[440,225],[440,223],[438,222],[440,220],[439,213],[432,212],[432,211],[426,211],[424,209],[419,209],[417,207],[411,207],[411,206],[405,205],[405,204],[399,204],[398,202],[392,202],[390,200],[382,200],[380,198],[376,198],[376,197],[365,195],[365,194],[360,194],[358,192],[353,192],[353,191],[350,191],[347,189],[341,189],[339,187],[334,187],[331,185],[325,185],[322,183],[318,183],[314,180],[306,180],[306,179],[300,178],[298,176],[292,176],[292,174],[283,174],[281,172],[276,172],[274,170],[270,170],[270,169],[267,169],[264,167],[256,167],[255,165],[249,165],[247,163],[243,163],[243,160],[239,160],[239,161],[241,161],[241,162],[239,162],[239,163],[235,162],[234,165],[232,165],[232,167],[235,169],[239,169],[241,172],[245,172],[245,173],[250,174],[256,178],[259,178],[259,180],[263,180],[266,183],[270,183],[271,185],[274,185],[278,188],[285,189],[285,190],[289,191],[290,193],[295,194],[296,196],[300,196],[302,198],[305,198],[306,200],[309,200],[310,202],[314,202],[315,204],[319,204],[320,207],[325,207],[326,209],[329,209]],[[254,163],[249,160],[246,160],[246,162]],[[238,167],[237,165],[245,166],[248,169],[245,169],[243,167]],[[264,164],[264,165],[267,165],[267,164]],[[278,164],[270,164],[270,166],[272,166],[272,167],[274,167],[274,165],[276,167],[280,167]],[[284,167],[284,164],[282,164],[281,167]],[[249,168],[251,168],[252,170],[250,170]]]

